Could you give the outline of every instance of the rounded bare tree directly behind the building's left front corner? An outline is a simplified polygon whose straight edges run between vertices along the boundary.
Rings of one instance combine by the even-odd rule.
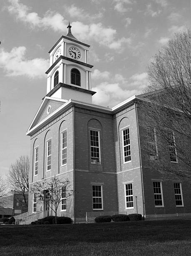
[[[29,173],[29,157],[20,156],[14,164],[10,165],[8,174],[8,183],[14,190],[19,191],[23,195],[24,208],[28,207],[28,173]]]

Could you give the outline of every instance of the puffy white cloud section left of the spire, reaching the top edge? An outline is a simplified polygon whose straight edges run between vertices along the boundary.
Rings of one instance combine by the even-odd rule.
[[[20,3],[19,0],[8,0],[10,5],[7,7],[11,14],[14,14],[18,20],[30,25],[31,28],[52,28],[54,31],[65,31],[67,21],[64,20],[60,13],[47,11],[43,18],[38,16],[38,13],[30,13],[28,6]]]

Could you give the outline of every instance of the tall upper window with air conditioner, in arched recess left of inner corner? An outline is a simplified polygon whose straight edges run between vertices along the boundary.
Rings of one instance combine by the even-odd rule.
[[[100,163],[99,131],[90,130],[91,163]]]

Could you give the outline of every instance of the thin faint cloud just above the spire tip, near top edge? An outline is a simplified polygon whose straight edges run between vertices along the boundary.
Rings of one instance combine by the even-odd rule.
[[[79,18],[79,19],[98,19],[103,16],[103,13],[97,13],[91,15],[89,13],[85,13],[85,11],[81,8],[76,7],[75,5],[71,5],[70,7],[65,6],[65,10],[69,13],[70,17],[72,18]]]

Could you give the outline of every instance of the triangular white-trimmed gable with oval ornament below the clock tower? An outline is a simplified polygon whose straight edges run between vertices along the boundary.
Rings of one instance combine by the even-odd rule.
[[[40,105],[32,123],[30,124],[28,131],[30,131],[35,125],[40,123],[42,120],[47,118],[49,115],[51,115],[53,112],[55,112],[62,105],[64,105],[65,102],[67,102],[67,100],[62,100],[62,99],[53,98],[53,97],[45,97],[42,104]],[[47,110],[48,106],[50,106],[50,112]]]

